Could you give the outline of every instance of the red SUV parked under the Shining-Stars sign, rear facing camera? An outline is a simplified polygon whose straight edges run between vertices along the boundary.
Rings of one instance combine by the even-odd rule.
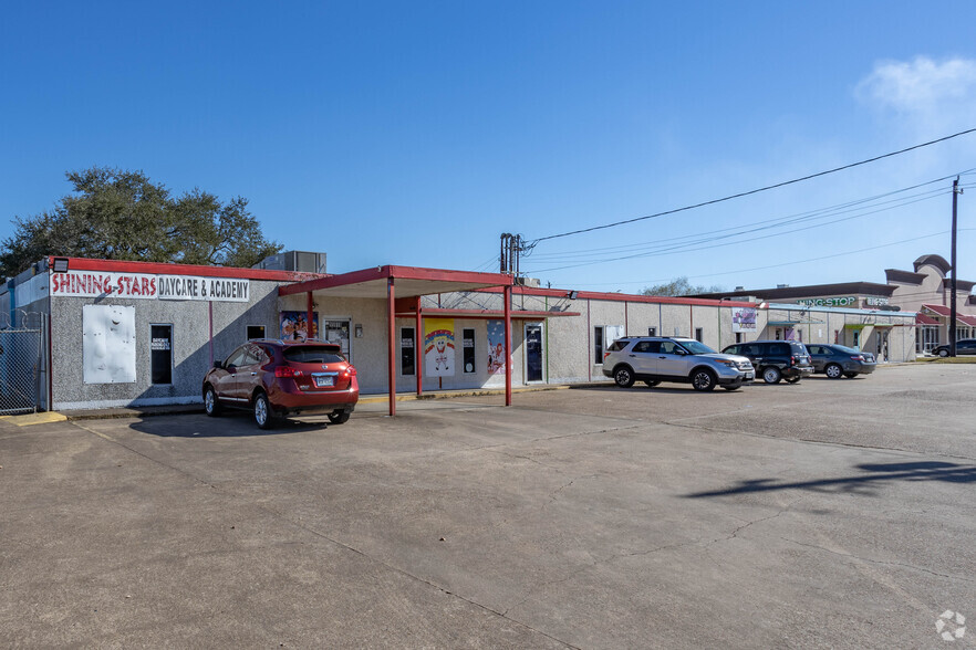
[[[249,340],[204,377],[204,408],[217,416],[225,407],[251,409],[261,429],[297,413],[328,413],[342,424],[360,398],[356,369],[339,344],[318,340]]]

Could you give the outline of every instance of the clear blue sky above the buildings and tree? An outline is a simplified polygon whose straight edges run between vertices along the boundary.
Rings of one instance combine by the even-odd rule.
[[[247,197],[269,238],[325,251],[331,272],[494,271],[502,232],[633,219],[976,127],[976,3],[793,4],[17,3],[0,238],[70,190],[65,171],[103,165]],[[546,240],[522,268],[594,291],[883,282],[949,254],[952,181],[890,192],[974,168],[970,134]],[[959,276],[976,280],[969,192]],[[677,243],[694,250],[662,250]]]

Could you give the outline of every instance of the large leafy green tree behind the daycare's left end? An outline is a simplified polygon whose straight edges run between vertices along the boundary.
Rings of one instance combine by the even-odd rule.
[[[243,197],[222,202],[195,188],[174,198],[142,171],[107,167],[65,176],[73,193],[50,211],[13,219],[0,277],[48,255],[251,266],[281,251],[264,239]]]

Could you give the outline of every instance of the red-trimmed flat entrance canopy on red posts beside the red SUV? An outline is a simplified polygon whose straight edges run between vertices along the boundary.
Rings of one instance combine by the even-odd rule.
[[[387,347],[387,382],[390,386],[390,415],[396,415],[396,326],[398,310],[408,308],[406,316],[417,321],[417,332],[423,332],[424,315],[446,315],[438,312],[447,310],[422,310],[419,297],[438,293],[477,291],[481,289],[502,287],[505,311],[494,312],[496,318],[505,321],[505,405],[511,406],[511,290],[512,277],[503,273],[476,273],[473,271],[448,271],[444,269],[420,269],[415,266],[376,266],[352,273],[316,277],[294,284],[285,284],[278,289],[278,295],[307,294],[308,322],[312,322],[312,295],[386,298],[386,317],[388,326]],[[412,301],[404,298],[414,298]],[[407,306],[408,305],[408,306]],[[456,311],[456,310],[455,310]],[[474,311],[474,310],[473,310]],[[548,312],[542,312],[548,314]],[[473,317],[473,316],[467,316]],[[538,317],[538,316],[537,316]],[[418,355],[419,364],[423,357]],[[417,368],[417,394],[422,391],[423,370]]]

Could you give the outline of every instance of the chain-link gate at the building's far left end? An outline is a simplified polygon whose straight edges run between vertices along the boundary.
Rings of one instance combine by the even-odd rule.
[[[31,316],[18,328],[0,329],[0,416],[37,411],[41,406],[43,327],[40,314]]]

